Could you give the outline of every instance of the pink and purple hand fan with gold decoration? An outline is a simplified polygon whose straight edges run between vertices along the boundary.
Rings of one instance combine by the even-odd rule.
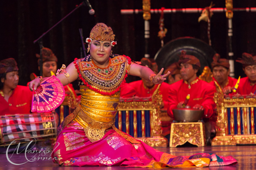
[[[64,87],[54,75],[42,81],[33,94],[31,111],[38,113],[56,109],[65,98]]]

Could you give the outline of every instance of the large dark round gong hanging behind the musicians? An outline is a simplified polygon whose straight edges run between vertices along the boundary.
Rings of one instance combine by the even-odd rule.
[[[194,55],[200,60],[201,72],[204,69],[204,66],[209,66],[211,68],[212,57],[216,51],[200,39],[180,37],[169,41],[156,53],[154,59],[158,64],[158,71],[160,71],[161,68],[170,66],[172,63],[178,62],[182,50],[186,51],[186,54]]]

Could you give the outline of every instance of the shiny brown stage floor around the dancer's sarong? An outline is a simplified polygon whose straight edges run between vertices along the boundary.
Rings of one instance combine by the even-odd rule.
[[[216,153],[219,156],[233,156],[238,164],[233,166],[216,166],[206,167],[203,170],[255,170],[256,169],[256,146],[230,146],[230,147],[179,147],[179,148],[158,148],[158,150],[173,155],[188,156],[196,153]],[[32,158],[27,154],[28,159]],[[50,153],[46,154],[50,155]],[[24,153],[8,154],[10,160],[16,164],[11,164],[6,154],[0,154],[0,170],[152,170],[152,168],[121,168],[121,167],[61,167],[54,164],[52,160],[36,160],[34,162],[27,162]],[[26,163],[24,163],[26,162]],[[24,164],[22,164],[24,163]],[[198,170],[201,168],[180,168],[186,170]]]

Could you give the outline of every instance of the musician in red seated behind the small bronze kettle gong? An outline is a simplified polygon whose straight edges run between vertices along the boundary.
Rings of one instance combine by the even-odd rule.
[[[170,85],[168,114],[173,117],[172,109],[182,108],[186,96],[190,94],[188,106],[204,110],[204,117],[211,117],[215,107],[213,101],[215,87],[199,80],[196,76],[201,66],[200,61],[182,51],[178,63],[180,64],[180,74],[183,80]]]

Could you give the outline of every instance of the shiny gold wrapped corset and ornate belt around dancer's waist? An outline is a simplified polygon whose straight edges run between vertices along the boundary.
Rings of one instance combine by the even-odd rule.
[[[104,137],[104,131],[114,124],[120,91],[107,96],[80,86],[80,92],[82,111],[78,112],[74,121],[84,127],[85,135],[91,142],[98,141]]]

